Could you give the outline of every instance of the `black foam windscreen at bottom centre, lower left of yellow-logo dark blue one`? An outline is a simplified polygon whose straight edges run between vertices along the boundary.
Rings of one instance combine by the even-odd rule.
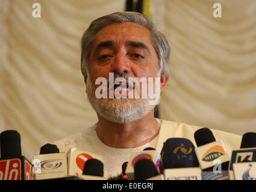
[[[145,180],[157,176],[159,173],[152,160],[139,160],[134,166],[134,179]]]

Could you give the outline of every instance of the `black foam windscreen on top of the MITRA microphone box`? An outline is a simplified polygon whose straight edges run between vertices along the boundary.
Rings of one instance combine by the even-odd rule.
[[[213,132],[206,127],[197,130],[194,137],[198,147],[216,141],[215,137],[213,136]]]

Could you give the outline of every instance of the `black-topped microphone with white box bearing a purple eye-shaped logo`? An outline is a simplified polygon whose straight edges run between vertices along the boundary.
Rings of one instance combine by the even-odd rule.
[[[67,177],[67,157],[57,145],[47,143],[40,148],[40,155],[33,157],[36,180]]]

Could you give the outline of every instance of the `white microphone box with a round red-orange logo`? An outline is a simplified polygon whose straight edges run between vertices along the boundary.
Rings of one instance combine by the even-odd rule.
[[[96,158],[102,161],[102,156],[93,154],[92,152],[83,151],[77,148],[71,148],[67,152],[67,175],[81,176],[83,175],[84,166],[87,160]]]

